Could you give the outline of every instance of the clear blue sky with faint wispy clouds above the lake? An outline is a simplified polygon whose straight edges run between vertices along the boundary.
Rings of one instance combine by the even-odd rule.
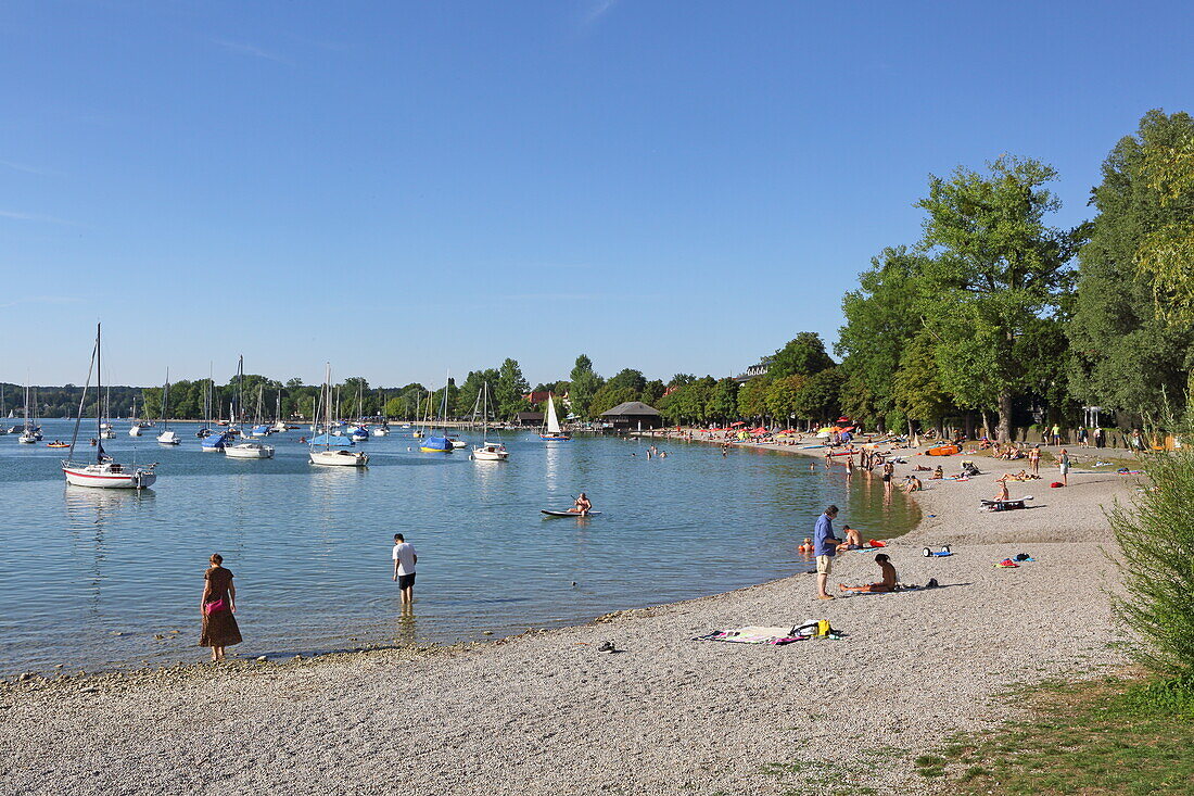
[[[929,173],[1192,110],[1194,11],[1122,2],[0,8],[0,380],[436,382],[587,353],[726,375],[832,339]]]

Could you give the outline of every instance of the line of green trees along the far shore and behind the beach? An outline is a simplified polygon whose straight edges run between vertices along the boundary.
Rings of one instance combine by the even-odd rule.
[[[1077,424],[1083,408],[1155,424],[1181,416],[1194,375],[1194,120],[1153,110],[1114,145],[1091,189],[1094,218],[1052,224],[1060,209],[1048,165],[1001,157],[984,170],[930,176],[916,201],[918,239],[884,249],[842,300],[845,323],[833,353],[800,332],[746,380],[678,373],[666,382],[624,368],[598,374],[577,357],[567,379],[534,392],[567,396],[581,421],[641,400],[671,423],[734,420],[792,425],[847,415],[868,428],[954,425],[1010,439],[1033,422]],[[341,417],[468,417],[484,384],[491,412],[510,420],[542,410],[517,360],[472,371],[461,384],[337,386]],[[207,379],[171,386],[170,415],[203,418]],[[235,380],[215,385],[213,415],[229,411]],[[5,385],[19,414],[21,387]],[[79,387],[38,388],[41,416],[73,415]],[[160,387],[112,387],[112,414],[137,399],[161,411]],[[245,409],[310,418],[320,387],[246,375]],[[94,412],[94,398],[85,414]]]

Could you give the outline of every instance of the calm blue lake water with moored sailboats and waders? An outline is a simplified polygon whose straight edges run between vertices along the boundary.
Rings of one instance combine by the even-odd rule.
[[[395,429],[358,443],[370,460],[357,470],[309,465],[303,431],[271,436],[272,460],[236,460],[202,453],[197,424],[178,424],[173,448],[154,441],[160,429],[115,425],[105,448],[118,461],[160,463],[152,490],[67,486],[63,452],[0,436],[0,676],[203,660],[213,552],[236,576],[245,643],[229,653],[272,656],[497,637],[805,571],[796,545],[830,502],[870,538],[919,516],[878,478],[700,443],[663,442],[669,457],[647,460],[645,441],[506,433],[510,461],[475,463],[421,454]],[[70,428],[43,422],[45,441]],[[581,490],[602,516],[542,519]],[[390,580],[399,532],[419,551],[406,617]]]

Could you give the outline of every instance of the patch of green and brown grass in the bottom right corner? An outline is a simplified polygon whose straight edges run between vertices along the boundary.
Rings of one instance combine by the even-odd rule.
[[[913,760],[950,794],[1194,794],[1194,681],[1051,685],[1033,715]]]

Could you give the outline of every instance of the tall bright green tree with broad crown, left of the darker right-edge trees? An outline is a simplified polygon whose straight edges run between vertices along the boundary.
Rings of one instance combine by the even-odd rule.
[[[986,173],[959,167],[931,177],[922,245],[922,314],[937,339],[942,385],[965,406],[996,409],[999,439],[1011,439],[1014,402],[1058,373],[1063,361],[1033,357],[1040,336],[1064,333],[1069,268],[1085,227],[1063,229],[1046,218],[1060,202],[1046,185],[1057,172],[1004,157]]]

